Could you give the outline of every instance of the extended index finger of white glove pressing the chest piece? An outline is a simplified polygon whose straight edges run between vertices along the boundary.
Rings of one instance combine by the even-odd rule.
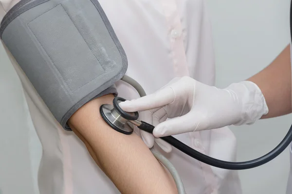
[[[165,87],[145,97],[120,102],[119,106],[126,112],[145,111],[169,104],[173,102],[174,97],[172,88]]]

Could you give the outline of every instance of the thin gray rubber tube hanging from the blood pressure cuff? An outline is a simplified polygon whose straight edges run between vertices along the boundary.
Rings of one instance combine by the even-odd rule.
[[[130,78],[127,75],[124,75],[124,77],[121,79],[122,81],[127,82],[131,86],[133,86],[137,92],[139,93],[140,97],[146,96],[146,92],[144,91],[143,87],[134,79]],[[185,194],[184,187],[183,187],[183,181],[181,177],[179,176],[179,173],[176,171],[175,167],[172,165],[171,162],[169,162],[164,155],[159,153],[158,151],[154,150],[154,148],[150,148],[150,151],[155,156],[155,158],[161,162],[169,171],[171,176],[173,177],[175,184],[177,186],[178,194]]]

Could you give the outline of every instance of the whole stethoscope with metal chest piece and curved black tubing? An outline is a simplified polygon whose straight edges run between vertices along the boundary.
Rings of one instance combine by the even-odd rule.
[[[291,2],[291,6],[292,6],[292,2]],[[290,7],[290,31],[292,34],[291,16],[292,16],[292,7]],[[138,91],[141,97],[146,95],[141,85],[137,83],[136,81],[134,81],[133,79],[129,78],[128,76],[124,76],[122,80],[132,85]],[[138,112],[127,113],[120,108],[119,103],[122,101],[125,101],[125,99],[122,97],[115,97],[113,99],[113,105],[104,104],[100,107],[100,114],[103,117],[103,119],[110,125],[110,127],[126,135],[129,135],[133,132],[133,125],[137,126],[139,129],[152,133],[154,126],[144,121],[138,120],[139,118]],[[292,142],[292,126],[290,127],[287,135],[284,137],[281,143],[278,146],[276,146],[272,151],[270,151],[268,154],[262,157],[259,157],[255,160],[246,161],[246,162],[227,162],[227,161],[221,161],[221,160],[209,157],[183,144],[181,141],[177,140],[176,138],[172,136],[161,137],[161,139],[163,139],[165,142],[169,143],[170,145],[176,147],[177,149],[187,154],[188,156],[198,161],[209,164],[211,166],[223,168],[223,169],[229,169],[229,170],[243,170],[243,169],[254,168],[254,167],[263,165],[267,162],[270,162],[275,157],[277,157],[280,153],[282,153],[286,149],[286,147],[289,146]]]

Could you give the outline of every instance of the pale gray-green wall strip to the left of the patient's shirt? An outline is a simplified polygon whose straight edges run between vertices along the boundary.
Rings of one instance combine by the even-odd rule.
[[[0,59],[0,193],[38,194],[38,166],[32,160],[39,147],[31,146],[35,129],[21,82],[1,43]]]

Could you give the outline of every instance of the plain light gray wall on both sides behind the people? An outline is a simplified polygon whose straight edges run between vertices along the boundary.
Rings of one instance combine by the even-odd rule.
[[[219,87],[260,71],[290,41],[289,0],[207,0],[207,3],[213,25]],[[23,105],[21,84],[1,45],[0,65],[0,99],[4,102],[0,104],[0,193],[32,194],[35,191],[37,194],[41,147],[27,116],[28,109]],[[15,104],[5,103],[11,99]],[[250,160],[273,149],[291,123],[292,115],[287,115],[252,126],[231,127],[237,136],[238,160]],[[285,194],[288,173],[289,149],[286,149],[264,166],[239,172],[243,194]]]

